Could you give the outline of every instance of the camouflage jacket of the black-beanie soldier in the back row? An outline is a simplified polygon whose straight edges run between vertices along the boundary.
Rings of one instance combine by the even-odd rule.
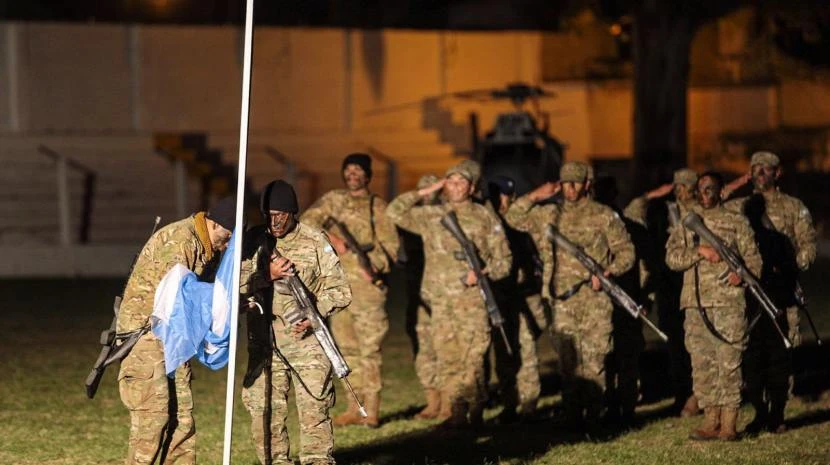
[[[370,208],[374,211],[370,212]],[[390,259],[395,260],[400,245],[395,225],[386,217],[385,211],[386,202],[374,194],[354,197],[345,189],[337,189],[314,202],[303,213],[302,221],[319,229],[329,217],[342,222],[361,248],[369,250],[367,255],[372,266],[379,273],[385,273],[391,267]],[[337,229],[331,229],[331,232],[339,235]],[[349,279],[359,276],[354,253],[348,252],[340,258]]]

